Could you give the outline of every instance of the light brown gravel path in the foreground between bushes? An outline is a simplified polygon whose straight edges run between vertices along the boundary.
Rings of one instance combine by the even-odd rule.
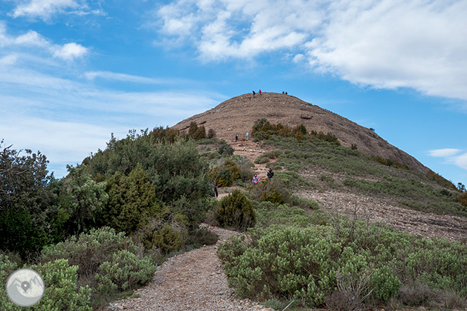
[[[208,226],[208,225],[205,225]],[[219,241],[238,233],[208,226]],[[248,299],[238,299],[229,289],[221,263],[216,256],[217,244],[169,258],[154,275],[153,281],[135,291],[140,298],[111,303],[109,310],[134,311],[272,311]]]

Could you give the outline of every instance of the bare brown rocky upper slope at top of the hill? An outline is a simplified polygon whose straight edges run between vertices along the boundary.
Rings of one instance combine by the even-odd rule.
[[[244,94],[214,108],[182,120],[174,125],[179,130],[188,130],[192,121],[204,125],[206,130],[215,130],[217,137],[232,141],[235,134],[241,139],[259,118],[266,118],[271,123],[296,126],[303,124],[306,129],[317,132],[332,132],[343,146],[357,146],[367,155],[379,155],[408,165],[412,170],[428,172],[430,169],[404,151],[389,144],[375,132],[358,125],[336,113],[309,104],[291,95],[263,93],[261,96]]]

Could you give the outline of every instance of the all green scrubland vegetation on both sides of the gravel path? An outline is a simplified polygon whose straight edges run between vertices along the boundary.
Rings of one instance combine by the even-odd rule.
[[[397,233],[323,212],[293,195],[319,187],[388,195],[407,208],[467,216],[465,187],[437,174],[371,158],[332,133],[258,120],[273,181],[251,185],[252,163],[213,130],[158,127],[91,154],[55,179],[41,153],[2,146],[0,279],[27,266],[46,292],[32,310],[93,310],[130,296],[178,251],[214,244],[201,221],[243,232],[221,244],[229,284],[239,296],[282,310],[358,310],[467,305],[467,246]],[[325,174],[310,179],[306,172]],[[339,174],[339,178],[334,175]],[[344,176],[344,177],[342,177]],[[210,181],[237,189],[214,200]],[[20,310],[0,289],[0,309]]]

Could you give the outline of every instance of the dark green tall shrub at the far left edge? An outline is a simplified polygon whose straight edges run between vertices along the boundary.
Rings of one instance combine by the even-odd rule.
[[[48,160],[40,152],[3,148],[0,141],[0,249],[34,256],[55,240],[57,219]],[[62,226],[62,221],[60,221]]]

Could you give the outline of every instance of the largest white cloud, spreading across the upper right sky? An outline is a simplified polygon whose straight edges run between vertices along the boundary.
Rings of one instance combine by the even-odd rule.
[[[466,15],[467,1],[178,0],[157,18],[203,61],[286,51],[351,83],[467,100]]]

